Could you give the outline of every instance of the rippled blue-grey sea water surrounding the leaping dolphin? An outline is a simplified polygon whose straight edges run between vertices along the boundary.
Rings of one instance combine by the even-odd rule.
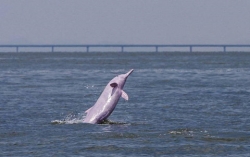
[[[83,123],[130,69],[115,123]],[[0,156],[250,156],[250,52],[0,53]]]

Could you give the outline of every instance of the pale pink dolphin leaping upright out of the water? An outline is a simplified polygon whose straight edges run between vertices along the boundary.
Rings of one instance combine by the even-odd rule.
[[[133,72],[131,69],[126,74],[114,77],[105,87],[95,105],[89,108],[84,123],[99,124],[106,120],[115,109],[120,97],[128,100],[128,95],[122,90],[128,76]]]

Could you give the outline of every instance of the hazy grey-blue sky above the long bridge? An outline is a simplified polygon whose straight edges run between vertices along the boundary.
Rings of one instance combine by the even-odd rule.
[[[0,0],[0,44],[250,44],[250,0]]]

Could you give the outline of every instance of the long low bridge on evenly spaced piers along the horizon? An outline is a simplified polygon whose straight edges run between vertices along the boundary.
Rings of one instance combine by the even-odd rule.
[[[247,48],[250,52],[250,44],[170,44],[170,45],[157,45],[157,44],[41,44],[41,45],[0,45],[0,48],[14,48],[14,52],[21,52],[20,49],[23,48],[49,48],[50,52],[57,52],[58,48],[83,48],[81,51],[90,52],[92,48],[118,48],[119,52],[126,52],[128,48],[151,48],[150,51],[159,52],[162,51],[161,49],[164,48],[186,48],[182,51],[189,51],[193,52],[196,48],[216,48],[219,50],[227,52],[228,48]],[[144,50],[145,51],[145,50]],[[165,50],[166,51],[166,50]],[[203,50],[204,51],[204,50]],[[206,51],[206,50],[205,50]],[[0,52],[1,49],[0,49]]]

